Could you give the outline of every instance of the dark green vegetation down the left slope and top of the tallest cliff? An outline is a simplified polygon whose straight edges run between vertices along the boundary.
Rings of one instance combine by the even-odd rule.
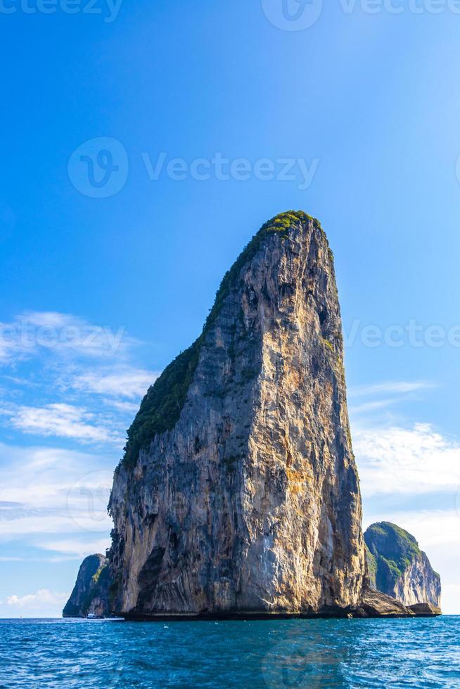
[[[127,431],[127,444],[124,446],[122,459],[125,467],[133,467],[139,451],[148,448],[155,435],[172,430],[179,420],[198,365],[205,336],[219,315],[227,295],[238,284],[238,277],[243,266],[253,259],[267,236],[279,233],[282,238],[287,238],[289,229],[299,221],[312,222],[315,227],[321,229],[319,220],[303,211],[281,213],[262,225],[231,269],[225,273],[200,337],[165,368],[143,398],[141,408]]]

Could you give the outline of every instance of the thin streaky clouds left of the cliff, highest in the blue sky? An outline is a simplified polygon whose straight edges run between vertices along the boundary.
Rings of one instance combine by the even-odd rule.
[[[27,435],[122,447],[127,425],[158,377],[130,363],[137,344],[124,328],[56,311],[0,323],[0,418]]]

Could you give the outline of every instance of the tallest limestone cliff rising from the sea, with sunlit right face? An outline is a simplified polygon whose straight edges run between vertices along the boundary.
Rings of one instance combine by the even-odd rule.
[[[365,553],[341,332],[319,222],[276,217],[129,430],[110,498],[117,612],[359,603]]]

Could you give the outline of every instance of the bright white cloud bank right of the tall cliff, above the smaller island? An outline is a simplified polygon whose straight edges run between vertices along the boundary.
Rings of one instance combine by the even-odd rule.
[[[364,527],[389,521],[413,534],[441,574],[443,610],[454,614],[459,612],[460,441],[433,425],[408,423],[392,408],[433,387],[419,380],[352,388],[350,416]],[[382,410],[385,416],[378,413]]]

